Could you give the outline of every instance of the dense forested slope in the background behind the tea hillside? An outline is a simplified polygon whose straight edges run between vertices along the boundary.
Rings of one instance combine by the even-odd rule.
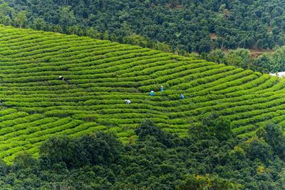
[[[0,22],[185,54],[285,45],[274,1],[0,1]],[[272,8],[271,8],[272,7]],[[20,11],[19,11],[20,10]],[[164,44],[166,43],[166,44]],[[231,61],[233,63],[233,60]]]

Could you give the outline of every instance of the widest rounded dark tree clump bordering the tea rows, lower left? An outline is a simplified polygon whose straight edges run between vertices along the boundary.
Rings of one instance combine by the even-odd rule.
[[[40,159],[50,167],[64,163],[68,168],[83,165],[111,164],[119,156],[121,144],[115,137],[103,132],[74,139],[52,137],[40,148]]]

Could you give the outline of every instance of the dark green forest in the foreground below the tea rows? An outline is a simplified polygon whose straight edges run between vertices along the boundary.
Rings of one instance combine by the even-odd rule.
[[[190,136],[163,132],[150,119],[122,145],[111,133],[54,136],[39,158],[21,153],[1,163],[1,187],[14,189],[284,189],[285,140],[267,123],[247,141],[230,122],[207,115]]]

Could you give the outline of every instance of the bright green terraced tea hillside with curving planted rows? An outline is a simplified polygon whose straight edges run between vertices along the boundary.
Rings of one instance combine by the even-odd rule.
[[[54,134],[107,130],[128,141],[143,118],[181,136],[207,112],[230,119],[239,136],[264,121],[285,124],[284,80],[87,37],[1,26],[0,82],[7,162],[23,150],[36,156]]]

